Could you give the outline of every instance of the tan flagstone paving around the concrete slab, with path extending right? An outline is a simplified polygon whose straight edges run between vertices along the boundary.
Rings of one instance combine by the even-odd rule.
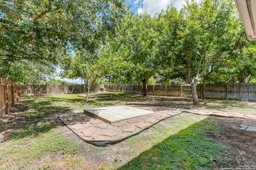
[[[118,108],[117,106],[114,107]],[[131,111],[134,111],[138,108],[143,108],[143,111],[149,111],[148,113],[152,113],[147,115],[141,115],[136,118],[123,120],[121,122],[114,124],[109,124],[101,120],[95,119],[89,115],[84,114],[82,110],[78,112],[73,111],[69,113],[64,113],[61,116],[59,116],[59,118],[64,124],[67,125],[67,127],[70,130],[72,130],[83,140],[119,140],[128,137],[129,135],[132,135],[134,133],[138,133],[144,128],[147,128],[157,123],[159,120],[163,120],[167,117],[171,117],[182,112],[206,116],[245,118],[245,121],[249,123],[254,123],[252,122],[252,118],[256,118],[255,115],[250,114],[241,114],[233,112],[210,112],[202,109],[169,108],[168,111],[163,110],[154,112],[154,108],[149,106],[133,105],[129,106],[129,108],[130,107],[132,107],[132,109],[130,109]],[[103,108],[105,109],[106,107]],[[248,119],[248,117],[250,118]],[[246,128],[251,127],[247,126],[246,124]],[[237,130],[239,130],[239,128],[237,128]],[[254,131],[254,129],[252,129],[251,131]]]

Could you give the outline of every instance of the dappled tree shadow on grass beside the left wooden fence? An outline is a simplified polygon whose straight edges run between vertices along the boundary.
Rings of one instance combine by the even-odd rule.
[[[71,111],[68,107],[54,106],[49,100],[37,99],[23,98],[10,109],[10,114],[5,116],[6,120],[1,122],[0,141],[32,138],[49,132],[62,125],[57,114]]]

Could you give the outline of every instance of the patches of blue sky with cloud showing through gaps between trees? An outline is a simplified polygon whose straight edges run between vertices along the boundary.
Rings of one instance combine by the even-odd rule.
[[[151,16],[154,16],[156,13],[159,13],[161,10],[166,9],[168,5],[173,4],[177,7],[178,10],[184,4],[184,0],[127,0],[125,4],[130,5],[130,10],[134,13],[148,13]],[[61,71],[60,67],[57,67],[57,79],[61,79],[58,77],[58,73]],[[83,83],[81,79],[61,79],[69,82],[75,83]]]

